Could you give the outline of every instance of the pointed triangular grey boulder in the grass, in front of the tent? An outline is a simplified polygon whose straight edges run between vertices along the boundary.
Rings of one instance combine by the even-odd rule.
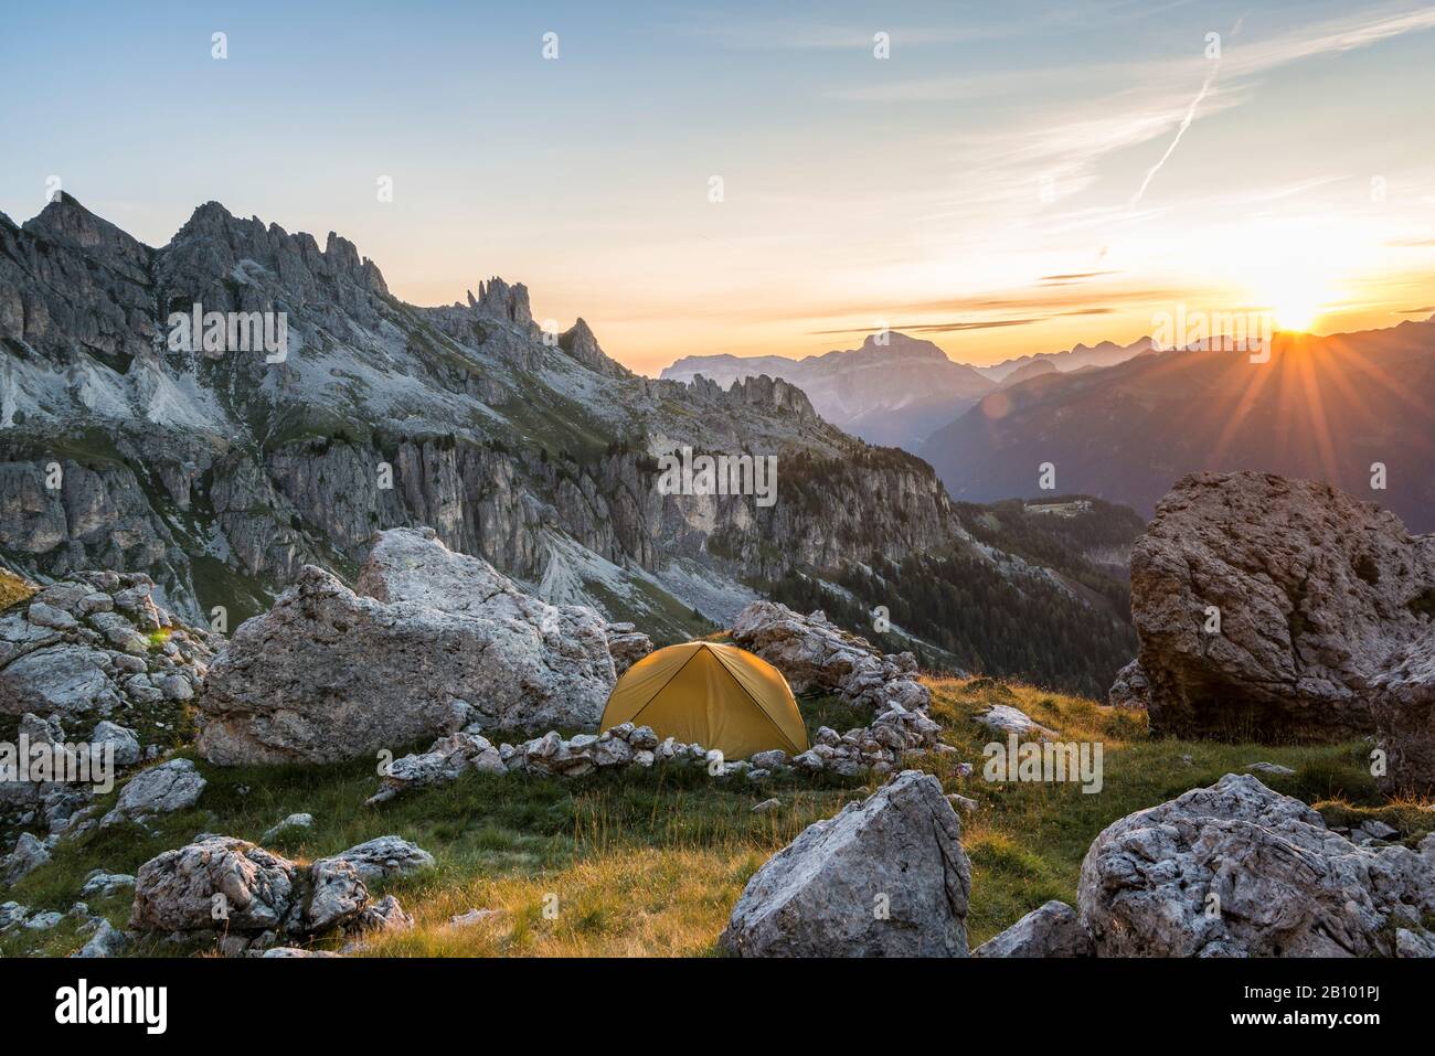
[[[758,869],[720,944],[740,957],[964,957],[960,829],[941,783],[904,770]]]

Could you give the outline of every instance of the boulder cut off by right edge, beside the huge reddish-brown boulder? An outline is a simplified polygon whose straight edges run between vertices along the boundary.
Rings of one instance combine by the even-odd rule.
[[[1391,670],[1375,680],[1372,710],[1385,752],[1380,791],[1435,793],[1435,633],[1392,659]]]

